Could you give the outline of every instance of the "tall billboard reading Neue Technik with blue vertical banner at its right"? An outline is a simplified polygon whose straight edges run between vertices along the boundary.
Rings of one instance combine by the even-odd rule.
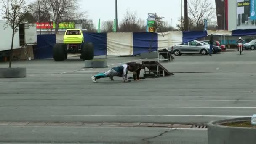
[[[256,29],[256,0],[236,2],[236,29]]]

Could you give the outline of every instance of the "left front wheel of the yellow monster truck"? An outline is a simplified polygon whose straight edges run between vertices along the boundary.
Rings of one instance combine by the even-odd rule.
[[[65,52],[66,45],[64,43],[57,43],[53,47],[53,59],[55,61],[64,61],[67,59],[67,53]]]

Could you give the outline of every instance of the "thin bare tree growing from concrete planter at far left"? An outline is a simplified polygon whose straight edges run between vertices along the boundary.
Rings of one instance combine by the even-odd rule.
[[[11,27],[12,29],[9,61],[9,68],[11,68],[14,35],[19,31],[19,24],[26,22],[25,14],[29,12],[29,8],[25,5],[25,0],[1,0],[0,3],[2,4],[2,8],[0,10],[3,12],[3,19],[6,19],[5,28]]]

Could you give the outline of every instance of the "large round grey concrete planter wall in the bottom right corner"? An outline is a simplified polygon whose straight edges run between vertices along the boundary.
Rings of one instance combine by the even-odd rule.
[[[251,117],[217,120],[208,123],[208,144],[255,144],[256,128],[222,126],[224,123],[251,121]]]

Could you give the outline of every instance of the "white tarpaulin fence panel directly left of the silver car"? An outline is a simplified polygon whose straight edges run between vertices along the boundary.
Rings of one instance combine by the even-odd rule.
[[[170,48],[182,43],[182,31],[158,33],[158,49]]]

